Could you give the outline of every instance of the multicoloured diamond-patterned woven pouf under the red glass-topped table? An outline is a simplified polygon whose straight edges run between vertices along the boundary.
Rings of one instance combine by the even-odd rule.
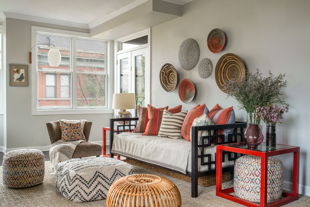
[[[283,164],[276,157],[268,157],[267,202],[273,202],[282,195]],[[261,199],[261,158],[245,155],[236,159],[234,175],[235,194],[252,202]]]

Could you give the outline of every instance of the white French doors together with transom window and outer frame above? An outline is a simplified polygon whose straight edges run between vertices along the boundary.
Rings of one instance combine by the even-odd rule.
[[[150,104],[150,35],[149,28],[115,41],[115,93],[135,93],[137,107]]]

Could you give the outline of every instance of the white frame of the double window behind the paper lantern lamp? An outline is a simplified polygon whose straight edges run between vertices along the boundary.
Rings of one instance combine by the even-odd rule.
[[[53,35],[59,37],[70,38],[71,42],[75,42],[77,39],[79,40],[93,40],[93,41],[102,41],[105,42],[105,74],[106,75],[106,106],[104,107],[77,107],[77,89],[76,89],[76,74],[84,72],[76,72],[76,54],[73,51],[76,51],[75,44],[70,45],[70,73],[71,73],[71,103],[72,106],[70,107],[46,107],[44,109],[38,108],[38,72],[37,72],[37,50],[33,49],[32,51],[32,115],[49,115],[49,114],[104,114],[104,113],[113,113],[112,109],[108,108],[109,103],[109,94],[107,88],[109,87],[108,83],[108,44],[109,42],[106,40],[99,40],[90,38],[89,33],[82,33],[82,32],[73,32],[61,29],[51,29],[51,28],[44,28],[44,27],[31,27],[32,37],[31,37],[31,45],[37,44],[37,35]]]

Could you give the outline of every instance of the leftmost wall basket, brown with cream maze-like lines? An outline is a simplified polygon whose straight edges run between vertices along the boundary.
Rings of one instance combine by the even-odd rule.
[[[163,89],[172,92],[177,86],[177,71],[173,65],[166,63],[159,72],[159,81]]]

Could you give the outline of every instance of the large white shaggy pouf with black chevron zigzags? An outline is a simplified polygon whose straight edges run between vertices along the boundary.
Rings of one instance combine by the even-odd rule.
[[[56,189],[73,202],[106,199],[114,181],[133,173],[132,165],[109,157],[66,160],[57,169]]]

